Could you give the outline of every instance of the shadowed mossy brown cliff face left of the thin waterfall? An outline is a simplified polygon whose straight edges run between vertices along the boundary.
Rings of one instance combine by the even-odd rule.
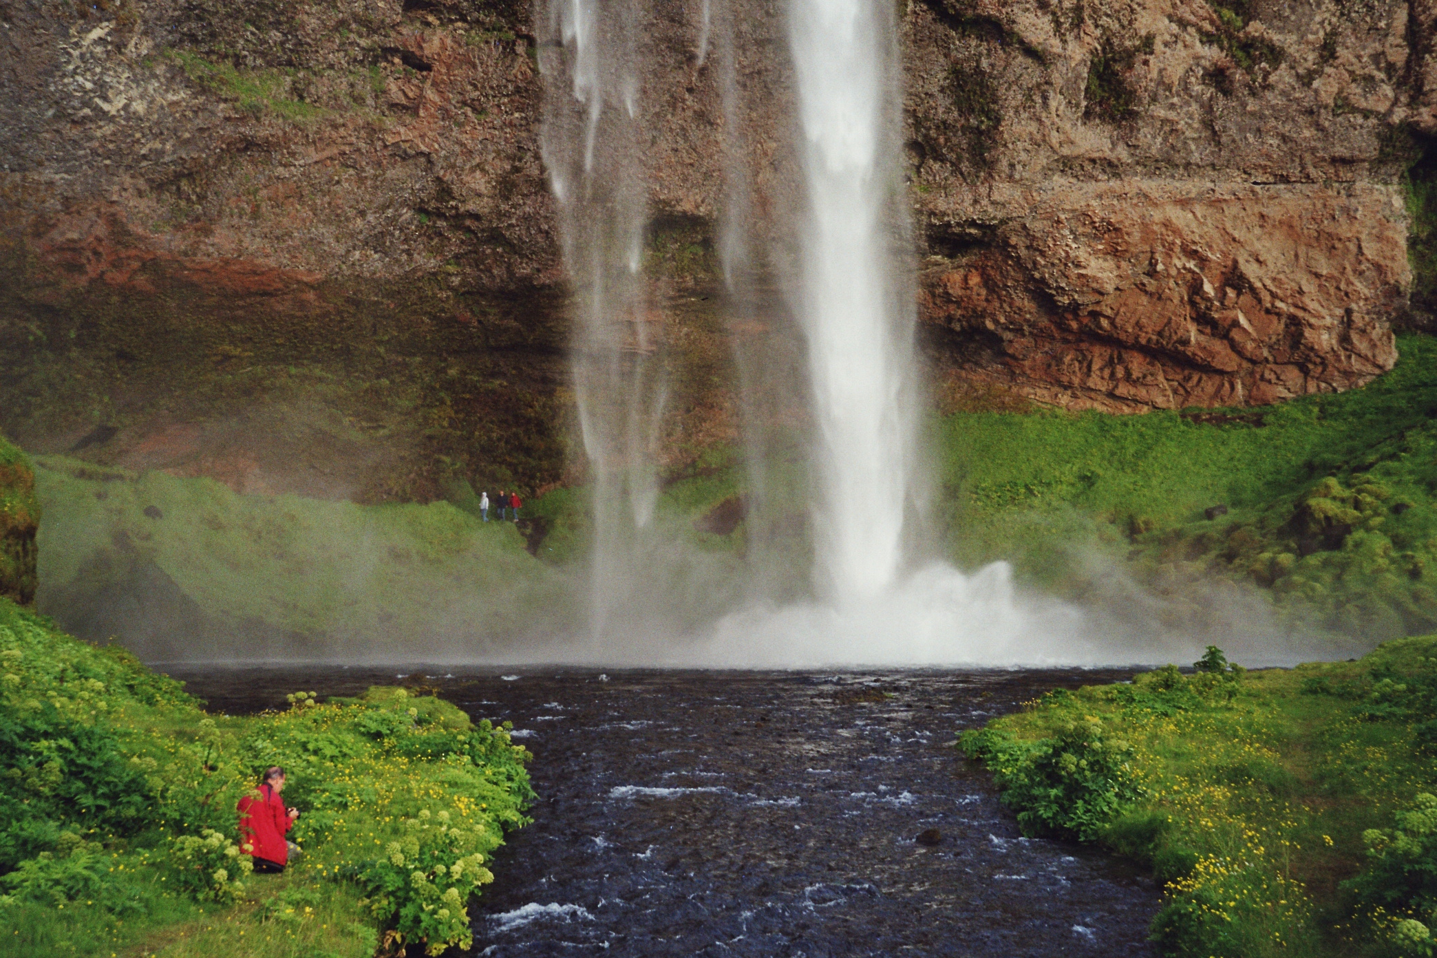
[[[16,441],[361,500],[433,496],[441,457],[556,477],[533,60],[504,10],[443,13],[0,7]]]

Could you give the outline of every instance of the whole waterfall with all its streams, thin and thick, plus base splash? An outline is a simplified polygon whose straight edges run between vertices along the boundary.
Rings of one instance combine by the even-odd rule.
[[[786,0],[787,62],[773,57],[772,33],[746,34],[743,56],[770,57],[779,75],[790,66],[792,85],[747,93],[736,70],[739,10],[731,0],[700,1],[693,59],[718,70],[729,169],[718,250],[747,434],[750,577],[739,582],[731,564],[704,559],[655,517],[668,372],[662,313],[644,276],[650,132],[639,45],[651,11],[647,0],[552,0],[539,43],[542,148],[575,290],[575,395],[593,490],[593,641],[576,654],[726,666],[1083,656],[1078,645],[1050,651],[1053,636],[1073,635],[1072,616],[1019,609],[1006,563],[971,576],[920,564],[905,529],[925,481],[892,6]],[[792,162],[777,175],[762,171],[763,184],[744,167],[747,111],[757,103],[749,95],[769,96],[766,115],[792,131]],[[769,134],[770,162],[789,157],[773,148],[783,131]],[[750,203],[760,185],[762,220]],[[802,358],[786,345],[798,346],[793,338],[772,332],[790,323]],[[795,419],[802,379],[806,412]],[[767,432],[776,419],[789,425]],[[793,544],[792,511],[780,514],[795,504],[795,470],[775,468],[792,458],[799,419],[812,427],[812,597],[782,585],[808,554]],[[764,516],[766,500],[777,498]]]

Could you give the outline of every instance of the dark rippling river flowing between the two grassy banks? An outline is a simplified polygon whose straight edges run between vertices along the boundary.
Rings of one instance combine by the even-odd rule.
[[[536,755],[535,823],[471,909],[474,954],[1152,955],[1155,883],[1027,840],[954,733],[1115,672],[435,676]],[[213,710],[395,671],[177,672]],[[941,840],[915,837],[937,829]]]

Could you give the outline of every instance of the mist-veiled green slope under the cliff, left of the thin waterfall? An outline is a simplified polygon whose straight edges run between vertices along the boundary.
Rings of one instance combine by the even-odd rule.
[[[448,503],[239,496],[208,478],[59,457],[40,460],[36,477],[47,506],[40,606],[103,639],[116,595],[168,603],[180,635],[141,648],[155,658],[175,656],[197,631],[216,656],[263,654],[253,623],[290,652],[354,654],[404,636],[424,655],[479,654],[570,620],[562,576],[525,552],[513,523],[486,524]]]

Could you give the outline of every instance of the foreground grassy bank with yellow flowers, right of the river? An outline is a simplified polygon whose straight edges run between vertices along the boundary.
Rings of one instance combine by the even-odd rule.
[[[1183,958],[1431,955],[1437,638],[1052,692],[964,734],[1029,834],[1154,868]]]

